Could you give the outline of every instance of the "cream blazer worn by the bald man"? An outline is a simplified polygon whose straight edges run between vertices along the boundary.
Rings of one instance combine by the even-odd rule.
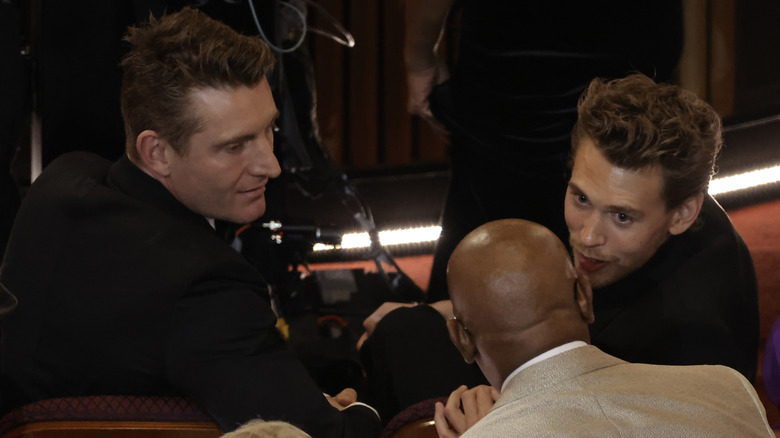
[[[774,436],[731,368],[633,364],[588,345],[518,373],[462,438]]]

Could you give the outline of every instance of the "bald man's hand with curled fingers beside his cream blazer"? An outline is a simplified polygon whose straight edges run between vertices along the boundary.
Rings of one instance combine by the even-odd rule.
[[[436,403],[433,419],[439,438],[458,438],[487,415],[498,397],[498,391],[486,385],[472,389],[463,385],[452,391],[446,406]]]

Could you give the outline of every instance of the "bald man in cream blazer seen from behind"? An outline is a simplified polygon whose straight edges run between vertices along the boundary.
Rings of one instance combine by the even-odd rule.
[[[450,338],[495,391],[461,387],[437,404],[440,438],[774,436],[753,387],[731,368],[632,364],[588,345],[589,281],[541,225],[477,228],[447,273]]]

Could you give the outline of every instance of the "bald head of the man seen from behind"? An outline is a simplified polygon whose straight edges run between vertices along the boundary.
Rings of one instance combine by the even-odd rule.
[[[504,219],[477,228],[452,253],[447,279],[457,318],[450,336],[494,387],[550,348],[588,341],[590,288],[541,225]]]

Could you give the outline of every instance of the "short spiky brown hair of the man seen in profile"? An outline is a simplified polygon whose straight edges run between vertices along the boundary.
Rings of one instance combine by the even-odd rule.
[[[184,154],[202,121],[189,110],[191,92],[204,88],[255,86],[271,74],[274,55],[256,36],[245,36],[186,7],[130,27],[130,51],[122,59],[122,117],[126,150],[138,159],[135,141],[156,131]]]

